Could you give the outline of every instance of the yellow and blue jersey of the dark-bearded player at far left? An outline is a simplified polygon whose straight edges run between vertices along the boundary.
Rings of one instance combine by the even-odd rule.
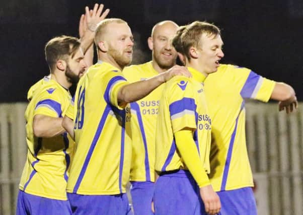
[[[64,116],[71,96],[56,81],[45,77],[30,88],[28,99],[25,112],[28,152],[19,188],[33,195],[67,200],[66,183],[74,142],[66,132],[51,138],[34,136],[33,119],[37,114]]]

